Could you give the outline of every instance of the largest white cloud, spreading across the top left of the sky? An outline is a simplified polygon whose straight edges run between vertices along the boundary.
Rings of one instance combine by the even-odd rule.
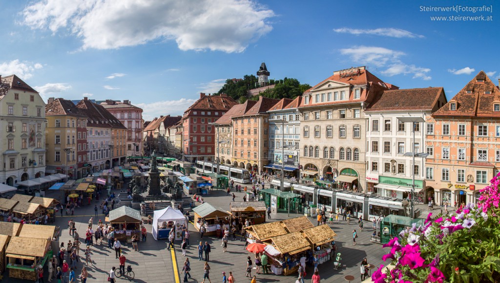
[[[82,48],[114,49],[175,40],[181,50],[241,52],[272,30],[274,12],[254,0],[37,0],[22,23],[53,34],[69,30]]]

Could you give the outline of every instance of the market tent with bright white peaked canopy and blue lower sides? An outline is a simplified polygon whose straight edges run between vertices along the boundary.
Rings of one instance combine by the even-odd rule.
[[[168,238],[171,229],[175,231],[175,239],[182,239],[180,227],[186,223],[186,217],[180,210],[167,206],[153,213],[152,235],[154,239]]]

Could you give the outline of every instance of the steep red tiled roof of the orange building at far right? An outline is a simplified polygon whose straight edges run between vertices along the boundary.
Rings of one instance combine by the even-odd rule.
[[[481,79],[484,81],[477,81]],[[485,91],[490,91],[490,93],[485,93]],[[456,103],[456,110],[449,109],[451,102]],[[500,117],[500,112],[493,111],[493,102],[500,103],[500,91],[481,70],[432,116]]]

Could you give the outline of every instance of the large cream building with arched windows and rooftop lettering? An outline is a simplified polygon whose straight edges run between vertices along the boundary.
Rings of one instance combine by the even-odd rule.
[[[361,66],[335,71],[305,91],[299,106],[302,177],[334,178],[337,186],[365,191],[364,109],[394,88]]]

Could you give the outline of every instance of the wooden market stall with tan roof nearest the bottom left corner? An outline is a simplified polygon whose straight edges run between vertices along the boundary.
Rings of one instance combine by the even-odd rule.
[[[35,281],[38,275],[36,266],[43,266],[47,258],[52,257],[50,240],[13,236],[5,250],[5,257],[10,278]]]

